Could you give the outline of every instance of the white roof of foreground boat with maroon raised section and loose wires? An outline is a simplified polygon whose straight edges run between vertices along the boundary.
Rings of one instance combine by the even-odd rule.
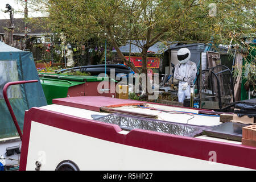
[[[204,140],[241,144],[238,140],[213,137],[205,135],[204,133],[198,135],[198,131],[195,134],[194,131],[196,130],[201,131],[203,129],[209,129],[223,124],[220,122],[220,117],[218,115],[201,114],[200,109],[134,100],[121,100],[118,98],[101,96],[58,98],[53,100],[52,105],[40,108],[108,123],[114,123],[117,121],[116,119],[119,119],[120,123],[122,122],[122,126],[119,125],[122,129],[120,132],[122,134],[127,134],[132,129],[136,129],[141,126],[143,126],[141,129],[159,131],[163,133],[168,133],[166,132],[166,129],[163,129],[163,127],[192,126],[194,130],[191,131],[191,133],[186,133],[186,135],[184,134],[185,136]],[[127,129],[127,122],[129,122],[128,125],[133,124],[133,128],[130,128],[130,130]],[[147,125],[145,125],[145,123],[147,123]],[[154,129],[152,129],[150,123],[154,125]],[[191,128],[187,127],[187,129],[189,130]],[[192,134],[195,135],[192,136]]]

